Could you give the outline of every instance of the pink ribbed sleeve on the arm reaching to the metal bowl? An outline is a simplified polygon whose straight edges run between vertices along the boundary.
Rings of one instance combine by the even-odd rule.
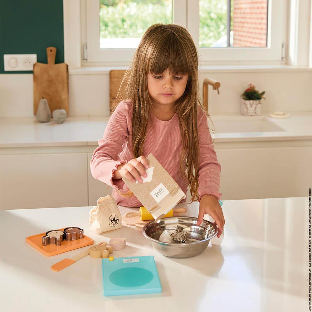
[[[219,193],[221,165],[217,161],[217,154],[214,150],[211,134],[209,131],[207,117],[200,112],[198,119],[199,139],[199,166],[198,166],[198,201],[202,195],[212,194],[219,200],[222,193]]]

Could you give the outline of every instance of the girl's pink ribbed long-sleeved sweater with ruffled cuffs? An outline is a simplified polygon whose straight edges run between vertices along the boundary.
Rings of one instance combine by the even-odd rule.
[[[146,157],[152,153],[163,168],[178,183],[183,192],[187,193],[188,183],[183,179],[179,167],[179,156],[182,151],[182,142],[177,113],[168,120],[157,119],[154,115],[154,126],[149,124],[147,136],[144,141],[143,155]],[[207,117],[198,110],[197,126],[199,137],[199,173],[198,173],[198,194],[200,198],[204,194],[212,194],[218,199],[221,165],[217,161],[217,154],[214,150],[211,134],[208,129]],[[112,196],[117,204],[126,207],[143,206],[138,198],[133,195],[124,198],[119,195],[129,191],[128,186],[122,179],[113,180],[113,175],[121,163],[127,163],[133,159],[131,135],[132,131],[132,102],[131,100],[121,101],[110,116],[105,128],[103,138],[98,140],[99,146],[95,149],[90,161],[92,176],[109,186],[113,187]],[[180,202],[186,202],[186,198]]]

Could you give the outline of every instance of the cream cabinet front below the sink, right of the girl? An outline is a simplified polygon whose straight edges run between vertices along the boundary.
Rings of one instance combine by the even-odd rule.
[[[222,199],[308,196],[312,185],[311,146],[216,152],[222,167]]]

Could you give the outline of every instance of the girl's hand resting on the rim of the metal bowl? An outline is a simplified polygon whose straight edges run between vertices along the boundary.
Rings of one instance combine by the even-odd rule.
[[[202,223],[202,219],[204,218],[204,214],[206,213],[208,213],[213,218],[213,220],[215,220],[215,222],[213,223],[217,225],[219,230],[217,237],[220,237],[223,231],[225,221],[222,208],[216,196],[211,194],[205,194],[200,199],[197,225]]]

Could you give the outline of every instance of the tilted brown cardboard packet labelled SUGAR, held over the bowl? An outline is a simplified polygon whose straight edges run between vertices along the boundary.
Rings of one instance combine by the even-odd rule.
[[[147,177],[142,177],[142,183],[129,181],[126,177],[122,180],[156,222],[159,222],[186,195],[152,154],[146,159],[149,168],[146,169]]]

